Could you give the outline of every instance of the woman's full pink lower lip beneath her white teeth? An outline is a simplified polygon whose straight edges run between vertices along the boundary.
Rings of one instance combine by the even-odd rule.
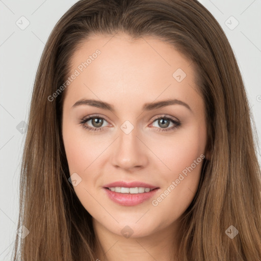
[[[114,192],[107,188],[103,188],[103,189],[105,189],[107,195],[109,196],[109,198],[112,201],[114,201],[120,205],[123,205],[123,206],[138,205],[138,204],[148,200],[149,198],[151,198],[153,195],[155,195],[156,191],[159,190],[159,188],[158,188],[158,189],[151,190],[150,192],[144,192],[144,193],[138,193],[138,194],[128,194],[128,193]]]

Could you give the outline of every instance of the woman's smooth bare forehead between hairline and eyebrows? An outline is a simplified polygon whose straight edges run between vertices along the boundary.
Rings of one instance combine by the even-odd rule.
[[[151,36],[133,40],[126,34],[93,35],[75,50],[70,65],[70,75],[77,71],[67,89],[74,102],[91,96],[144,103],[195,92],[192,62]]]

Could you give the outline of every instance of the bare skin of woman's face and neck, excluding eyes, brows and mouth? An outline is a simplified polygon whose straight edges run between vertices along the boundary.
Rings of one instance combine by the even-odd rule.
[[[121,33],[89,38],[74,53],[72,72],[96,49],[101,54],[67,87],[62,117],[70,175],[76,172],[82,178],[73,188],[93,217],[99,242],[95,253],[110,261],[119,256],[126,261],[173,260],[181,236],[180,217],[195,196],[203,160],[157,206],[152,200],[206,155],[204,102],[196,89],[193,64],[166,42],[148,36],[131,40]],[[172,76],[178,68],[187,74],[181,82]],[[146,102],[169,98],[186,102],[191,111],[177,104],[142,111]],[[80,99],[106,101],[115,113],[89,105],[72,108]],[[93,114],[106,118],[103,130],[90,132],[80,124]],[[161,132],[164,127],[153,118],[164,115],[181,125]],[[129,134],[120,128],[126,120],[134,126]],[[91,120],[85,125],[97,126]],[[167,127],[173,125],[169,121]],[[160,189],[141,204],[122,206],[102,188],[118,180],[142,181]],[[121,233],[126,225],[133,230],[129,238]]]

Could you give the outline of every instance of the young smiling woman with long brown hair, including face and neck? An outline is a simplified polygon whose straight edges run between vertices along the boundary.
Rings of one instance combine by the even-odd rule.
[[[242,76],[194,0],[82,0],[36,75],[13,260],[261,260]]]

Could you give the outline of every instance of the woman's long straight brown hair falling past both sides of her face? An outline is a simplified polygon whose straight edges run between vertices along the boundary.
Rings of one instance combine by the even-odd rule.
[[[205,161],[198,191],[184,214],[179,260],[260,260],[261,182],[252,116],[231,46],[196,0],[81,0],[58,21],[33,89],[18,223],[29,234],[16,236],[13,260],[98,258],[92,217],[68,181],[61,132],[65,92],[53,101],[48,97],[65,83],[70,58],[81,43],[91,34],[117,32],[173,44],[193,61],[204,98],[211,159]],[[236,231],[231,225],[239,231],[233,239],[228,236]]]

